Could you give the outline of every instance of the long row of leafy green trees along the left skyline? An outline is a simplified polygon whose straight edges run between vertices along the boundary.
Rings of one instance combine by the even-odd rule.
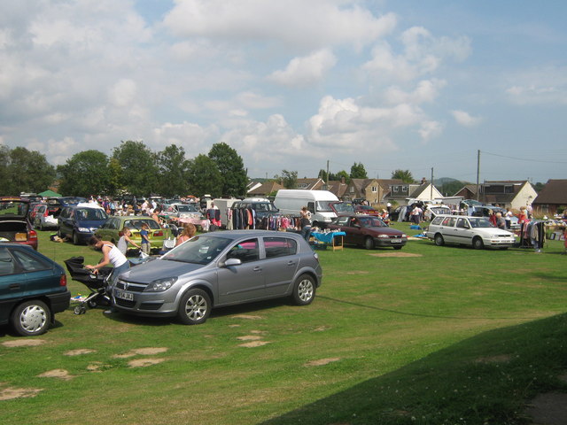
[[[215,143],[207,155],[188,159],[175,144],[156,152],[143,142],[126,141],[110,157],[101,151],[82,151],[57,168],[40,152],[0,146],[0,182],[3,196],[42,192],[58,182],[58,192],[64,196],[243,197],[248,178],[242,158],[226,143]]]

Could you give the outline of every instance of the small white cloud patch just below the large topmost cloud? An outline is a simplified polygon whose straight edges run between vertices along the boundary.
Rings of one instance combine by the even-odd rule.
[[[272,73],[268,80],[283,86],[307,86],[320,81],[337,63],[330,49],[313,52],[307,57],[293,58],[283,71]]]

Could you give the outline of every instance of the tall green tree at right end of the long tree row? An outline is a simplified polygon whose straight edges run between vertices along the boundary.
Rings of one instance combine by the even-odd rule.
[[[243,197],[246,194],[248,176],[244,161],[237,151],[227,143],[214,143],[209,158],[214,160],[217,169],[221,173],[223,197]]]

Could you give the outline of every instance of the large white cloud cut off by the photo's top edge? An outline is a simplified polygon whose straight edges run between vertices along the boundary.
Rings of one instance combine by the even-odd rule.
[[[206,37],[237,42],[270,42],[300,48],[328,45],[361,47],[389,34],[392,13],[375,17],[352,1],[177,0],[164,24],[179,37]]]

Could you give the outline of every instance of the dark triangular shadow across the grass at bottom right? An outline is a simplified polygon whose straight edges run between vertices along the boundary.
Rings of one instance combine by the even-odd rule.
[[[494,329],[262,424],[531,423],[528,400],[567,392],[566,341],[564,313]]]

